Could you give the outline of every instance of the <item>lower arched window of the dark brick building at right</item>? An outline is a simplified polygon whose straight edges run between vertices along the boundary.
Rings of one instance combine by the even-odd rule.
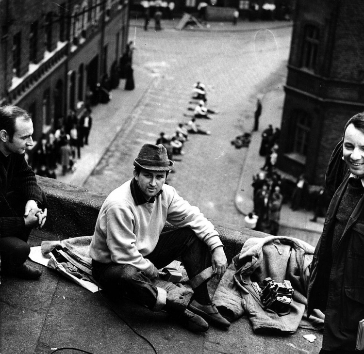
[[[307,156],[312,117],[304,111],[295,111],[292,114],[292,121],[294,123],[293,152]]]

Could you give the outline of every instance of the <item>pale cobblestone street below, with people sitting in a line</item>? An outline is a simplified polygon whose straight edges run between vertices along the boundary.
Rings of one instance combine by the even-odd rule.
[[[128,129],[119,132],[84,187],[109,193],[131,178],[132,161],[141,145],[155,144],[161,131],[172,136],[179,122],[190,119],[191,91],[199,80],[207,86],[207,106],[219,113],[213,120],[198,120],[211,135],[190,135],[185,155],[176,156],[176,173],[168,177],[168,183],[206,217],[225,225],[243,225],[234,195],[246,150],[235,149],[231,141],[252,129],[258,95],[282,89],[291,27],[144,32],[132,23],[134,72],[144,71],[154,79],[133,111]],[[266,124],[261,122],[260,129]],[[258,151],[257,159],[263,159]],[[248,171],[247,178],[255,173]]]

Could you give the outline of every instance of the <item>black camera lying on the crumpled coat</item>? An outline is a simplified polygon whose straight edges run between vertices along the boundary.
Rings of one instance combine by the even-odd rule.
[[[261,283],[252,283],[258,293],[264,308],[271,309],[279,316],[288,315],[291,312],[293,290],[291,282],[284,280],[278,283],[272,278],[265,278]]]

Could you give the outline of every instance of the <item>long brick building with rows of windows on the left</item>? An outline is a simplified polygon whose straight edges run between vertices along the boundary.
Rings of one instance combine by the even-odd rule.
[[[33,150],[69,109],[82,113],[87,87],[124,52],[128,26],[128,0],[0,1],[0,104],[31,113]]]

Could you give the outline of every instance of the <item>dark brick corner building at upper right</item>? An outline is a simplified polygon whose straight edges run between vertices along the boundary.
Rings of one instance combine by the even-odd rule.
[[[364,2],[298,0],[278,166],[322,184],[348,118],[364,111]]]

